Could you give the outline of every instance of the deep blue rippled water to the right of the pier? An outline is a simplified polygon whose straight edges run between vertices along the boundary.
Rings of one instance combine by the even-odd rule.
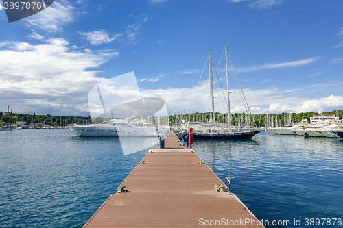
[[[196,153],[224,183],[234,177],[232,192],[259,220],[290,221],[266,227],[343,227],[338,220],[335,226],[333,220],[316,225],[316,218],[343,220],[343,140],[262,132],[252,140],[195,143]],[[314,218],[314,225],[305,218]]]

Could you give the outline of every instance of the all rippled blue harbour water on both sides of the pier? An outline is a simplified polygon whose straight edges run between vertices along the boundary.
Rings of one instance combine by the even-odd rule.
[[[343,140],[258,134],[194,148],[260,220],[343,219]],[[59,129],[0,132],[0,227],[82,227],[147,150]],[[294,226],[301,219],[301,226]],[[343,225],[330,227],[343,227]]]

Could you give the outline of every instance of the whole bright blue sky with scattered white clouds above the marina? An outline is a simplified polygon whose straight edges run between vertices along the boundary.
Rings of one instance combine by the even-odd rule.
[[[1,5],[0,110],[88,116],[91,88],[134,71],[143,96],[165,99],[169,114],[208,112],[204,64],[211,49],[217,66],[225,46],[252,112],[343,109],[342,9],[338,0],[58,0],[8,23]],[[243,112],[229,83],[231,109]]]

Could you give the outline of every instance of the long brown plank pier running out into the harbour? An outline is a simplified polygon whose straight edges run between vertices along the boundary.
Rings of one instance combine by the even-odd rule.
[[[173,132],[149,152],[121,183],[128,192],[112,194],[85,228],[263,227],[235,194],[215,190],[227,187]]]

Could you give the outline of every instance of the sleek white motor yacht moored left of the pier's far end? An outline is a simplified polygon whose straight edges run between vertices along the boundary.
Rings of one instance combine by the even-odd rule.
[[[123,119],[113,119],[99,124],[68,127],[80,137],[152,137],[158,136],[153,127],[137,127]]]

